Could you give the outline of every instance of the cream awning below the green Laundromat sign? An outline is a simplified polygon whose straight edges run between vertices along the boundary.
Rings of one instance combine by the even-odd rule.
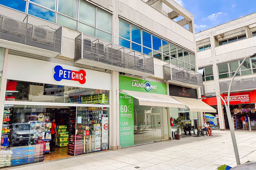
[[[185,105],[171,96],[164,94],[154,94],[146,92],[136,92],[130,90],[121,90],[123,94],[127,94],[139,100],[141,106],[159,106],[171,108],[185,108]]]

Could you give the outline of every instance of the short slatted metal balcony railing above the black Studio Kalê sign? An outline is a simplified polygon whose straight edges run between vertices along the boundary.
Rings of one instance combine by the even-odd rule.
[[[188,87],[203,87],[202,74],[174,64],[163,65],[164,80]]]

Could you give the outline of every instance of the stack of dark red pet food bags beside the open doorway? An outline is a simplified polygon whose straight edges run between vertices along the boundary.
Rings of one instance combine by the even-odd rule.
[[[78,155],[83,151],[82,135],[71,135],[68,143],[68,154]]]

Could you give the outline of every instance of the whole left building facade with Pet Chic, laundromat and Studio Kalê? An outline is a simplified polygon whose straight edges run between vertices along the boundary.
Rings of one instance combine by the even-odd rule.
[[[172,139],[170,118],[197,126],[216,112],[196,100],[193,15],[174,0],[15,0],[0,11],[0,167],[56,159],[52,145],[60,158]]]

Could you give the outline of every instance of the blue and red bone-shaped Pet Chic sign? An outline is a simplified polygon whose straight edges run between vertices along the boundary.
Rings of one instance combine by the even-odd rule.
[[[86,82],[85,76],[86,72],[84,70],[73,71],[63,69],[60,65],[56,65],[53,69],[54,75],[53,79],[56,81],[64,80],[73,80],[78,81],[80,84],[84,84]]]

